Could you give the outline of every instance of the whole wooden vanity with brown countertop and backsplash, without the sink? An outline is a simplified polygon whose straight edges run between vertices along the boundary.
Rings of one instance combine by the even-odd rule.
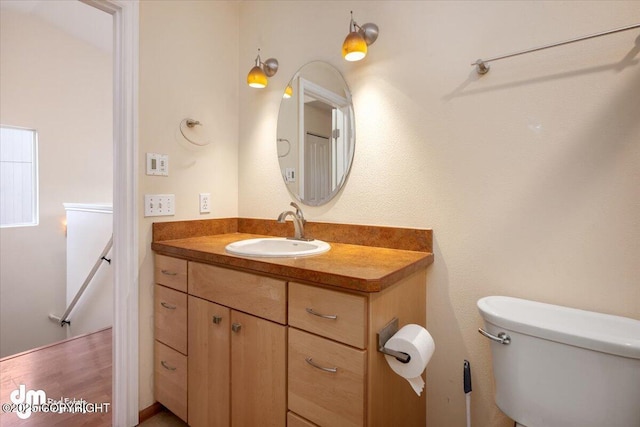
[[[192,426],[424,426],[377,332],[426,321],[431,230],[307,223],[331,250],[247,258],[291,234],[252,219],[156,223],[155,398]]]

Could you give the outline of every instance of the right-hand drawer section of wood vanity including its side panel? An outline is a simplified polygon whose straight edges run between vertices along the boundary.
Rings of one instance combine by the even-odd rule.
[[[424,393],[417,396],[391,370],[377,351],[377,332],[394,317],[401,326],[424,325],[425,307],[424,271],[373,293],[290,282],[287,378],[292,425],[424,426]]]

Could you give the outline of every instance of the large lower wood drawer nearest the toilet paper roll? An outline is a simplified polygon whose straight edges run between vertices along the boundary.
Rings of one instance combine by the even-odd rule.
[[[291,411],[319,426],[361,427],[365,413],[365,372],[365,350],[289,328]]]

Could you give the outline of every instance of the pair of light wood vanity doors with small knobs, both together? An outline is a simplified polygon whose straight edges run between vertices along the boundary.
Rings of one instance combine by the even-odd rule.
[[[286,328],[189,296],[189,424],[284,426]]]

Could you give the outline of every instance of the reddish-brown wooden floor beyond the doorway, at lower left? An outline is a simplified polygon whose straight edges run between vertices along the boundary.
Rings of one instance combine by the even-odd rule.
[[[111,328],[71,338],[0,360],[0,426],[110,426]],[[10,394],[24,385],[27,391],[42,390],[47,399],[88,402],[94,413],[32,413],[27,419],[7,412]],[[104,403],[108,403],[104,405]],[[102,412],[98,407],[102,405]],[[107,411],[108,409],[108,411]]]

